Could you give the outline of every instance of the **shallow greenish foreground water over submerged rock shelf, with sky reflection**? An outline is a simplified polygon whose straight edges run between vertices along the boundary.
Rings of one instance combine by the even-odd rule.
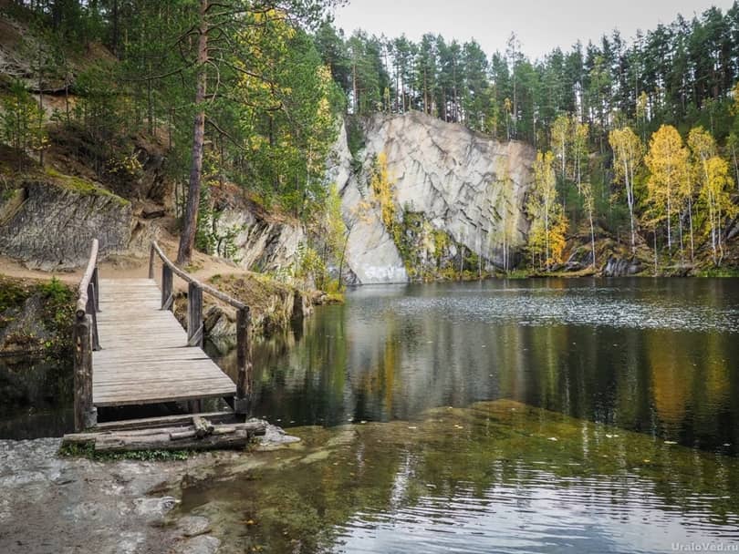
[[[512,401],[294,429],[185,484],[244,552],[670,552],[739,540],[739,460]]]

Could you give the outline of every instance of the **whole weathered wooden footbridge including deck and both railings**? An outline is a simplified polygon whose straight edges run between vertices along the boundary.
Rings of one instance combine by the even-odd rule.
[[[99,279],[98,250],[99,241],[93,240],[75,310],[75,430],[95,429],[99,407],[120,405],[220,397],[234,415],[248,414],[252,390],[249,307],[182,271],[156,242],[151,243],[148,279]],[[157,260],[161,262],[161,291],[154,281]],[[172,313],[175,276],[187,282],[187,332]],[[203,293],[235,310],[235,384],[203,352]],[[149,421],[147,425],[159,424]],[[234,429],[218,432],[230,434]],[[201,425],[198,438],[202,431]],[[207,426],[206,434],[210,433],[211,426]],[[220,439],[210,442],[223,443]]]

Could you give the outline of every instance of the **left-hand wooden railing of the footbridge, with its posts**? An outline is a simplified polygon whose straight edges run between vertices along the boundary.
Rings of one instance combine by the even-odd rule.
[[[98,411],[92,404],[92,351],[100,349],[98,312],[98,239],[93,239],[88,267],[78,287],[77,309],[72,335],[75,372],[75,430],[82,431],[98,423]]]

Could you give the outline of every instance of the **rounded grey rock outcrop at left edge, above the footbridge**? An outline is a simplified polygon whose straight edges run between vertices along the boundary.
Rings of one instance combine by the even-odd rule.
[[[28,179],[5,190],[0,254],[32,269],[68,270],[87,263],[92,239],[102,257],[129,251],[140,236],[130,202],[78,178]],[[134,232],[135,231],[135,232]]]

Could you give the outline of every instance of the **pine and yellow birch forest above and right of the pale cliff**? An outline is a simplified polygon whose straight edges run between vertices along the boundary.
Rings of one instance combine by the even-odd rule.
[[[474,40],[347,37],[326,22],[316,42],[353,115],[415,109],[539,150],[532,266],[563,262],[573,235],[593,266],[596,239],[621,235],[632,252],[649,241],[655,266],[699,248],[721,264],[739,183],[736,3],[537,60],[515,33],[492,56]]]

